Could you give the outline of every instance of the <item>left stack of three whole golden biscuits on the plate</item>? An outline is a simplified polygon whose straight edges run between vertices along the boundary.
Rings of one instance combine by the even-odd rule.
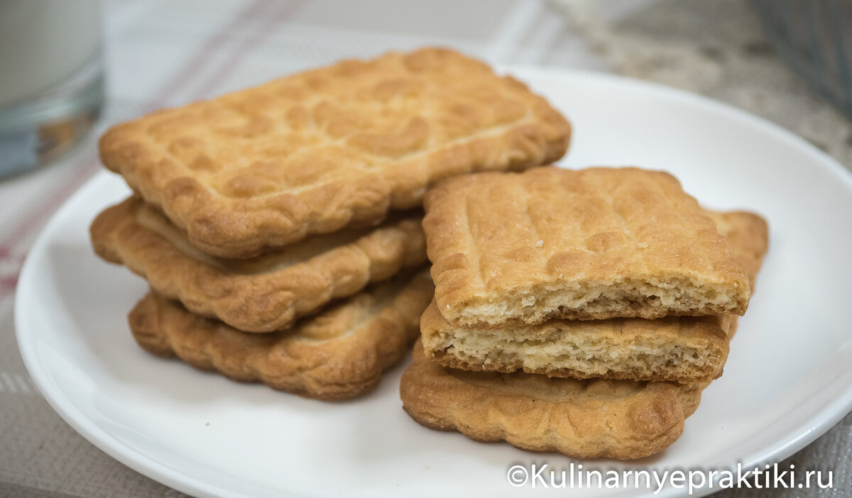
[[[353,398],[404,356],[433,294],[426,189],[551,163],[570,131],[450,50],[347,60],[108,130],[101,160],[134,193],[92,243],[150,285],[130,312],[148,351]]]

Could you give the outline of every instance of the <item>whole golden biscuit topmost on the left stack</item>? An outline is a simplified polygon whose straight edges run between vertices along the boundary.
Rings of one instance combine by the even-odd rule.
[[[109,129],[100,152],[199,249],[245,258],[376,223],[448,176],[551,163],[570,135],[523,83],[421,49],[154,112]]]

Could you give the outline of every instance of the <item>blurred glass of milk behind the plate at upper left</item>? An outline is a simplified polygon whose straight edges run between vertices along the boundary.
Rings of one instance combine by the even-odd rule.
[[[60,157],[103,100],[98,0],[0,0],[0,177]]]

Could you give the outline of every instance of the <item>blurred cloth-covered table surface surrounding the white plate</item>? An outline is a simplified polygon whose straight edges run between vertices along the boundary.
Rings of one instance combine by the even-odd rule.
[[[113,0],[105,5],[109,103],[69,157],[0,181],[0,495],[179,496],[80,437],[37,392],[14,340],[14,289],[37,232],[99,169],[109,123],[348,56],[450,45],[499,64],[614,72],[726,101],[852,167],[852,125],[790,72],[740,0]],[[366,15],[369,13],[369,15]],[[834,490],[717,496],[848,496],[852,415],[780,467],[832,470]]]

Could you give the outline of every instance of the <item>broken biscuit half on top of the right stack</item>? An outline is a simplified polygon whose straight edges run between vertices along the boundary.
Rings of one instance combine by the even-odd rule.
[[[425,197],[438,311],[453,325],[746,312],[748,277],[680,183],[636,168],[445,180]]]

